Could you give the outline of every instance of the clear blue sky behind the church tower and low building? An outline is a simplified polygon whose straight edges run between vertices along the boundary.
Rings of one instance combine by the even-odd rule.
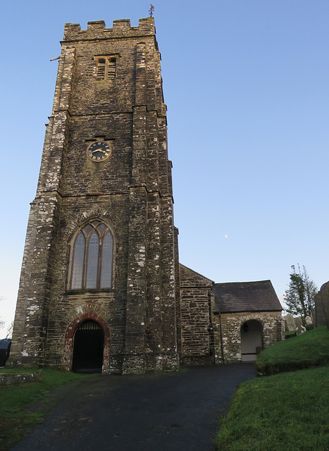
[[[149,1],[1,4],[0,316],[13,318],[64,23]],[[154,0],[180,261],[216,282],[328,268],[329,1]],[[1,332],[0,332],[1,335]],[[0,336],[1,338],[1,336]]]

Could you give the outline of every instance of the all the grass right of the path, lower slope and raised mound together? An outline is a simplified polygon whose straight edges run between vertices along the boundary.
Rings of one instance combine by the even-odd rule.
[[[261,352],[256,368],[272,376],[240,385],[221,420],[215,440],[218,450],[328,451],[328,365],[326,327]]]

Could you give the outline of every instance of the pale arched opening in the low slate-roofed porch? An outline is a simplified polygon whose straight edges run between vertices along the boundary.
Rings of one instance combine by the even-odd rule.
[[[250,319],[241,326],[242,362],[255,362],[262,343],[262,326],[256,319]]]

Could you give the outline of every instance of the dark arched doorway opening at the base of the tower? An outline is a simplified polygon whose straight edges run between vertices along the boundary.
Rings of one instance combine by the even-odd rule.
[[[104,330],[93,319],[83,321],[75,330],[73,371],[101,373],[104,354]]]

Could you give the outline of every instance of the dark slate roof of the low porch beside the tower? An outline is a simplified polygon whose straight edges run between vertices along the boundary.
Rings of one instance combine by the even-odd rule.
[[[221,313],[237,311],[281,311],[271,280],[215,283],[215,309]]]

